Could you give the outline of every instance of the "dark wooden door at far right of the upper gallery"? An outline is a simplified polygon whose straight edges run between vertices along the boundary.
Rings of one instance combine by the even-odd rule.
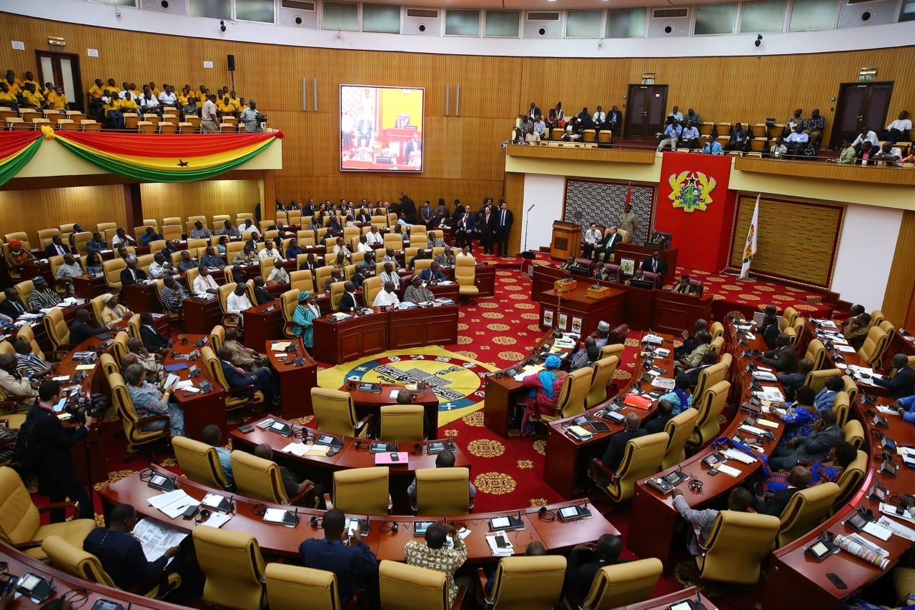
[[[889,98],[893,94],[892,82],[844,82],[839,86],[835,105],[835,120],[829,137],[829,147],[838,148],[842,138],[852,139],[867,125],[879,133],[887,121]]]

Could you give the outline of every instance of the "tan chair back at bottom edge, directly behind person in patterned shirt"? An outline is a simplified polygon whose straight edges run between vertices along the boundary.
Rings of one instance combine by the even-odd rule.
[[[448,604],[448,579],[444,572],[401,562],[382,560],[378,566],[382,608],[397,610],[458,610],[464,589],[454,605]]]

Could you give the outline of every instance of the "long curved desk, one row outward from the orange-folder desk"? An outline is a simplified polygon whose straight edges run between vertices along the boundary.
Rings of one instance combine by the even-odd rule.
[[[728,330],[733,329],[733,326],[730,323],[727,323],[726,329],[727,333]],[[748,348],[759,349],[760,345],[762,345],[762,337],[757,335],[754,341],[750,341]],[[749,380],[751,377],[750,374],[746,372],[747,362],[746,359],[741,359],[738,353],[737,355],[734,355],[734,362],[731,364],[731,374],[736,374],[741,380],[738,381],[738,384],[745,388],[749,387]],[[761,383],[765,388],[777,387],[781,389],[779,383],[769,383],[765,381]],[[742,391],[737,395],[742,397]],[[733,404],[732,406],[734,409],[738,409],[739,407],[738,404]],[[746,412],[738,411],[737,415],[727,426],[727,429],[723,430],[720,436],[729,438],[738,433],[737,428],[744,422],[746,415]],[[765,414],[764,418],[778,424],[778,428],[767,428],[767,430],[774,433],[775,440],[771,441],[769,444],[761,445],[764,452],[767,455],[770,455],[778,445],[781,434],[784,432],[784,424],[781,423],[777,416],[770,413]],[[746,435],[746,433],[743,433],[743,435]],[[671,466],[666,470],[662,470],[657,476],[664,476],[680,468],[686,475],[702,481],[702,490],[699,492],[689,489],[686,482],[681,483],[679,487],[683,490],[684,499],[691,508],[707,508],[709,506],[724,504],[724,500],[727,498],[731,489],[737,486],[746,485],[750,477],[755,476],[762,467],[759,462],[747,465],[736,460],[729,460],[727,465],[737,468],[740,471],[739,476],[732,477],[725,474],[709,476],[709,468],[702,464],[702,460],[706,455],[711,453],[712,451],[708,447],[704,447],[692,457],[689,457],[684,462],[680,463],[680,465]],[[634,552],[639,557],[657,557],[664,563],[665,569],[669,570],[673,567],[669,563],[671,558],[671,542],[674,538],[674,533],[680,521],[680,517],[677,514],[676,509],[673,508],[673,498],[670,495],[662,496],[651,487],[648,487],[646,483],[647,480],[647,478],[642,479],[636,483],[635,495],[632,498],[632,509],[630,512],[632,518],[630,528],[632,531],[651,531],[652,535],[630,537],[628,546],[630,551]]]

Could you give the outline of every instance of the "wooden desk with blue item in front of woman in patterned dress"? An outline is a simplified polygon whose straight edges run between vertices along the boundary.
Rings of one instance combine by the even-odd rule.
[[[198,441],[202,440],[203,429],[210,425],[210,423],[215,423],[220,427],[222,437],[225,438],[229,435],[229,424],[226,418],[225,407],[225,390],[217,380],[212,378],[210,371],[207,370],[202,358],[193,361],[177,360],[172,358],[171,355],[172,353],[189,354],[195,349],[199,349],[195,348],[194,344],[204,337],[206,337],[207,345],[209,345],[210,335],[185,333],[179,337],[188,339],[188,343],[182,344],[181,341],[177,341],[172,347],[172,351],[167,355],[164,364],[168,365],[186,362],[188,364],[188,369],[196,364],[200,369],[200,375],[199,377],[194,378],[194,385],[199,386],[201,380],[209,380],[213,385],[212,390],[209,392],[197,392],[190,396],[186,396],[183,391],[175,392],[175,399],[178,401],[178,404],[181,405],[181,409],[184,412],[184,435]],[[191,379],[188,375],[188,369],[178,370],[175,374],[178,375],[182,381]]]

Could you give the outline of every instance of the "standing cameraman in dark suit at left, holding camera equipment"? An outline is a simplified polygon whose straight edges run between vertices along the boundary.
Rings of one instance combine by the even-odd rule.
[[[38,466],[38,493],[48,496],[51,503],[63,502],[69,497],[80,503],[81,519],[95,519],[92,502],[86,488],[73,470],[70,447],[84,440],[89,434],[95,418],[88,412],[85,422],[79,426],[64,427],[54,412],[54,405],[63,397],[57,381],[42,381],[38,386],[38,404],[28,412],[33,421],[37,449],[40,453]],[[62,508],[50,511],[51,523],[65,518]]]

